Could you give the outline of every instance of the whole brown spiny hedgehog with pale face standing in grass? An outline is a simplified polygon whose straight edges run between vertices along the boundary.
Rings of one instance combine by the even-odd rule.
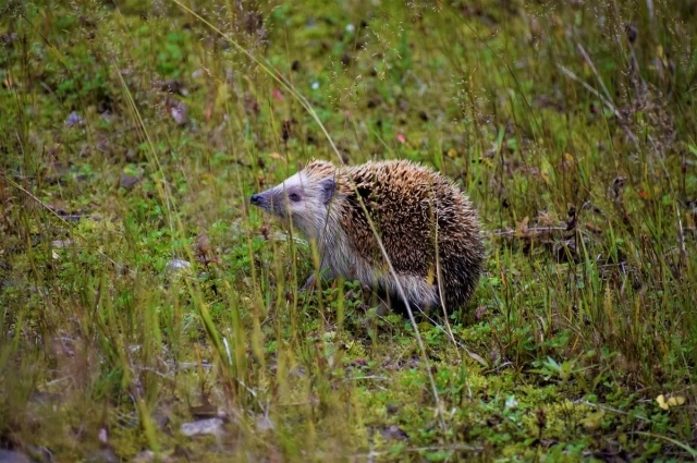
[[[316,244],[322,278],[358,280],[398,310],[408,303],[452,313],[478,283],[485,252],[477,211],[457,185],[424,166],[313,160],[249,202]],[[304,288],[314,282],[313,275]]]

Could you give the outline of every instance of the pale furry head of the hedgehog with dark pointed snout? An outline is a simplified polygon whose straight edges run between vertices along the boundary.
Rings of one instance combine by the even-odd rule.
[[[317,239],[325,230],[335,187],[337,168],[311,161],[283,183],[252,195],[249,202],[285,223],[292,222],[307,237]]]

